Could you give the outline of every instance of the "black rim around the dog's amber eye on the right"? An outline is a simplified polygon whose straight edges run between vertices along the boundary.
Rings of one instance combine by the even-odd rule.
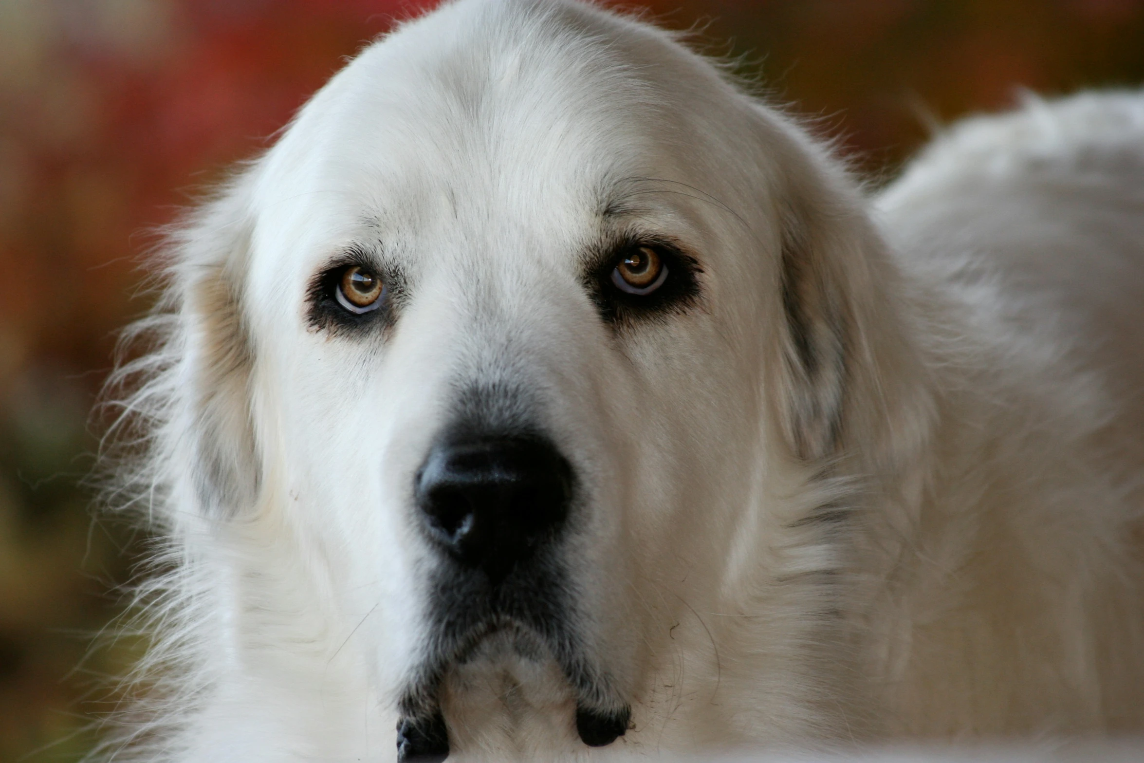
[[[623,259],[634,249],[649,248],[660,259],[664,272],[657,283],[638,291],[628,291],[615,283]],[[641,320],[662,321],[700,302],[699,261],[678,241],[669,237],[627,236],[599,247],[593,257],[587,287],[601,317],[615,326]]]

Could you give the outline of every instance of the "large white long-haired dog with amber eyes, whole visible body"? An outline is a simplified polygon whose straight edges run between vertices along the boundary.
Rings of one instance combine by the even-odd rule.
[[[668,33],[460,0],[168,264],[142,758],[1144,728],[1144,94],[871,200]]]

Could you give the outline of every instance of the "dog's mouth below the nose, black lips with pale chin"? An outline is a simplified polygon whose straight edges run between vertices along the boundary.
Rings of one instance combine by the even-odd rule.
[[[630,708],[583,649],[559,566],[517,567],[495,585],[463,572],[443,566],[435,581],[436,636],[400,700],[399,760],[545,757],[623,736]]]

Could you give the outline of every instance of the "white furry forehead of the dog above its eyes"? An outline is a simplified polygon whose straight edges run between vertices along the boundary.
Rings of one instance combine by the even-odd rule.
[[[669,110],[615,39],[555,13],[572,7],[506,13],[514,5],[527,6],[461,3],[468,16],[413,24],[307,105],[265,168],[284,240],[320,230],[321,251],[366,229],[577,236],[641,181],[672,174]]]

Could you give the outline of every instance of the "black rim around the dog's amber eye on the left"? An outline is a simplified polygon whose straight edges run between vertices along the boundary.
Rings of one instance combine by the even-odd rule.
[[[341,292],[342,279],[352,268],[372,273],[381,280],[378,300],[365,308],[353,305]],[[392,327],[396,302],[403,289],[400,273],[386,267],[372,253],[351,248],[328,262],[313,276],[307,289],[307,320],[313,331],[355,333],[381,325]]]

